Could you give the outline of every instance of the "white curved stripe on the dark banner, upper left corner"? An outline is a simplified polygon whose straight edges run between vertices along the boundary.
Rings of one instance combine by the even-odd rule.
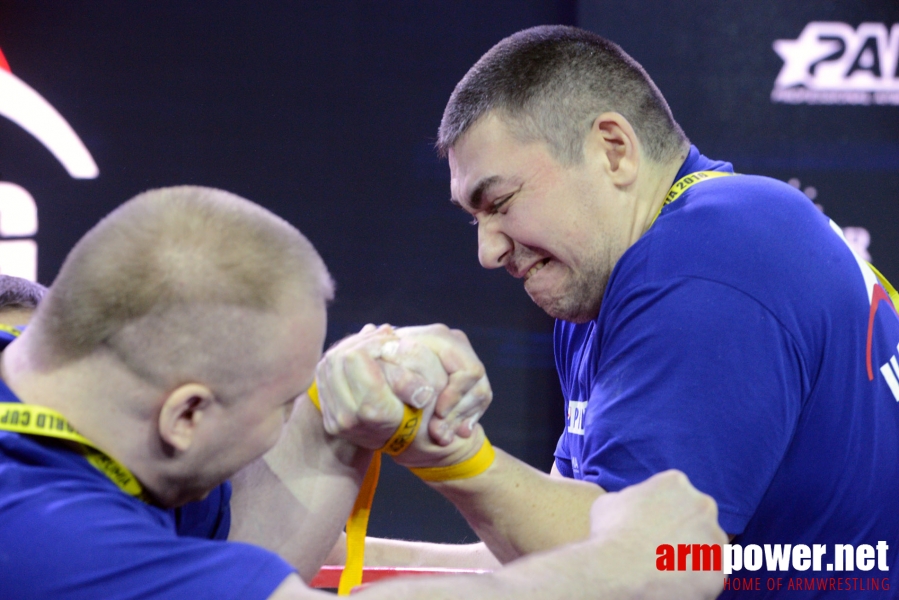
[[[81,138],[49,102],[24,81],[0,69],[0,115],[37,138],[75,179],[100,174]]]

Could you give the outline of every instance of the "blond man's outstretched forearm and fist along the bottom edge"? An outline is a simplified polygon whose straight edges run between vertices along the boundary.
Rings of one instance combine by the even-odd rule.
[[[528,490],[535,491],[546,497],[539,489]],[[587,540],[524,557],[487,575],[394,580],[356,597],[708,600],[721,591],[720,571],[656,568],[659,544],[727,541],[718,526],[715,501],[693,488],[682,473],[662,473],[621,492],[601,494],[589,512],[592,523]],[[294,577],[285,581],[272,600],[313,597],[318,597],[316,592]]]

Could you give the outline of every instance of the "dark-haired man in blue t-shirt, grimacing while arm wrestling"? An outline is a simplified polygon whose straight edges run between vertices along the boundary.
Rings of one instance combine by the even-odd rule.
[[[496,559],[580,539],[597,497],[672,468],[715,498],[734,544],[896,544],[897,299],[803,194],[701,155],[640,65],[571,27],[487,52],[438,147],[481,264],[556,318],[566,428],[551,475],[498,453],[481,476],[433,484]],[[486,554],[371,546],[388,562]],[[896,589],[889,552],[845,575]],[[794,564],[772,575],[814,574]],[[826,592],[757,595],[785,593]]]

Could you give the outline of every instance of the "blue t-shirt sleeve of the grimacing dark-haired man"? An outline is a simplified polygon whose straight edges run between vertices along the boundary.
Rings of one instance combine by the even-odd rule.
[[[697,278],[633,288],[609,316],[590,377],[583,478],[616,491],[680,469],[718,502],[722,528],[741,533],[807,388],[793,338],[753,298]]]

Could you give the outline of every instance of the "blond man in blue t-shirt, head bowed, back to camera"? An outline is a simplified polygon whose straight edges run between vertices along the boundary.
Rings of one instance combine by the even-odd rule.
[[[329,597],[301,577],[334,545],[372,459],[295,401],[313,381],[331,295],[324,263],[295,228],[221,190],[146,192],[88,232],[24,333],[2,328],[0,597]],[[439,342],[418,339],[420,352]],[[453,373],[475,364],[461,363]],[[406,397],[402,377],[391,380],[394,395],[362,375],[375,405]],[[468,438],[432,444],[441,450],[428,456],[464,454]],[[232,476],[233,495],[223,483]],[[490,575],[389,582],[359,597],[720,589],[714,573],[663,585],[629,564],[669,539],[723,541],[714,502],[682,474],[609,494],[596,510],[594,535],[580,544]]]

